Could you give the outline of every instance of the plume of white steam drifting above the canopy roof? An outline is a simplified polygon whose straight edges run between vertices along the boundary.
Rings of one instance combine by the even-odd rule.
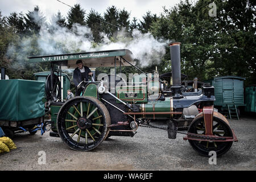
[[[53,21],[54,22],[54,21]],[[130,49],[133,52],[134,59],[138,59],[141,67],[147,67],[151,64],[158,64],[165,54],[167,40],[156,40],[150,33],[142,34],[139,30],[133,30],[131,38],[127,38],[125,31],[119,31],[117,34],[118,41],[111,42],[106,34],[101,33],[104,37],[103,43],[93,46],[93,38],[90,28],[73,24],[69,30],[67,27],[60,27],[56,23],[42,24],[39,37],[37,40],[41,50],[40,55],[55,55],[63,53],[77,53],[90,51],[103,51],[111,49]],[[22,52],[20,55],[29,53],[32,38],[22,41]],[[10,46],[8,53],[15,47]],[[17,52],[17,51],[16,51]],[[31,55],[26,55],[31,56]]]

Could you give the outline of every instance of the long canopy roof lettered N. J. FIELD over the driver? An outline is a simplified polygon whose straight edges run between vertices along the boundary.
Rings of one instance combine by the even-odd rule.
[[[129,49],[116,49],[109,51],[69,53],[63,55],[48,55],[28,57],[31,63],[52,62],[66,66],[67,68],[76,68],[76,61],[82,60],[82,63],[90,68],[114,67],[114,57],[116,57],[116,65],[130,66],[135,65],[133,53]],[[121,59],[124,58],[125,60]]]

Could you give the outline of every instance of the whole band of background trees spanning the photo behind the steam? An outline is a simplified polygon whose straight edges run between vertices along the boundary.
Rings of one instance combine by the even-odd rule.
[[[234,75],[246,77],[245,84],[255,84],[256,2],[216,0],[217,14],[213,17],[209,16],[209,4],[212,2],[183,0],[171,9],[164,8],[159,16],[147,11],[142,20],[130,19],[128,11],[118,10],[115,6],[108,7],[102,16],[95,10],[86,14],[77,4],[69,10],[67,19],[58,12],[52,23],[71,30],[76,23],[89,27],[94,47],[102,43],[102,32],[112,42],[128,42],[131,32],[138,28],[143,33],[151,33],[156,39],[181,42],[181,72],[188,75],[188,79],[198,77],[203,81]],[[43,24],[49,32],[57,28],[56,25],[46,25],[38,6],[26,14],[14,12],[3,17],[0,13],[0,66],[7,67],[10,78],[34,79],[32,73],[49,71],[49,64],[34,65],[26,59],[27,56],[41,55],[38,39]],[[118,34],[120,31],[122,34]],[[142,70],[154,72],[156,65]],[[168,45],[162,62],[157,66],[160,74],[171,71]],[[110,73],[110,68],[97,69],[97,74],[100,72]],[[123,67],[122,73],[139,72]]]

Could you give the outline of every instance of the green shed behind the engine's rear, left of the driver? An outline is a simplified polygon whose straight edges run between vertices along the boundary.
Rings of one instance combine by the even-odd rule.
[[[38,72],[34,73],[34,75],[36,77],[36,80],[45,82],[48,75],[51,75],[51,72]],[[57,73],[55,73],[55,75],[57,75]],[[63,94],[61,95],[63,96],[63,99],[65,99],[67,97],[67,90],[70,89],[71,80],[65,73],[61,73],[61,76],[61,84],[63,85]]]

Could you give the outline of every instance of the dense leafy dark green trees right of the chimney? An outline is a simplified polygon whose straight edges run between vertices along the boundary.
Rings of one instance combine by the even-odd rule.
[[[154,36],[181,42],[181,70],[190,79],[234,75],[255,82],[255,2],[181,1],[151,26]],[[164,57],[164,64],[170,55]],[[254,76],[253,76],[254,75]]]

